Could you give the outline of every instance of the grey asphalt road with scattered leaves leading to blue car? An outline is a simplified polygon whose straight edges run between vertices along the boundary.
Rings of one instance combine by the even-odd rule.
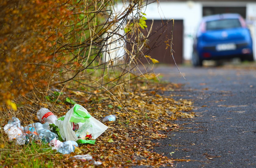
[[[248,68],[159,66],[162,80],[183,83],[165,92],[194,102],[193,119],[176,121],[184,130],[159,140],[155,151],[174,159],[175,167],[256,167],[256,66]],[[174,152],[174,153],[172,153]]]

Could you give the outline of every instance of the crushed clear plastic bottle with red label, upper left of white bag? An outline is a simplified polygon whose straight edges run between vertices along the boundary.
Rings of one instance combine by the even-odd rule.
[[[41,119],[43,123],[54,123],[58,118],[49,109],[41,108],[37,111],[37,117]]]

